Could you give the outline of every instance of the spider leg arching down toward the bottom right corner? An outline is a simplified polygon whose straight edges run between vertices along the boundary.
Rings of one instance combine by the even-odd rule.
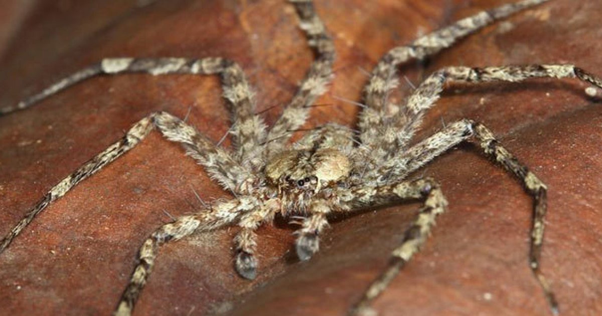
[[[476,137],[480,147],[486,155],[494,158],[504,169],[514,174],[523,182],[527,193],[535,201],[533,207],[533,223],[530,233],[529,266],[533,275],[541,285],[545,299],[548,301],[554,314],[558,312],[558,303],[551,291],[550,285],[539,269],[541,259],[541,247],[544,240],[544,216],[547,209],[545,184],[537,178],[526,166],[521,164],[517,158],[508,152],[495,139],[494,134],[484,125],[473,122],[472,120],[461,120],[448,125],[441,132],[438,132],[426,140],[421,141],[411,147],[406,153],[400,156],[400,161],[407,165],[406,171],[412,172],[432,161],[433,158],[449,150],[453,146]]]

